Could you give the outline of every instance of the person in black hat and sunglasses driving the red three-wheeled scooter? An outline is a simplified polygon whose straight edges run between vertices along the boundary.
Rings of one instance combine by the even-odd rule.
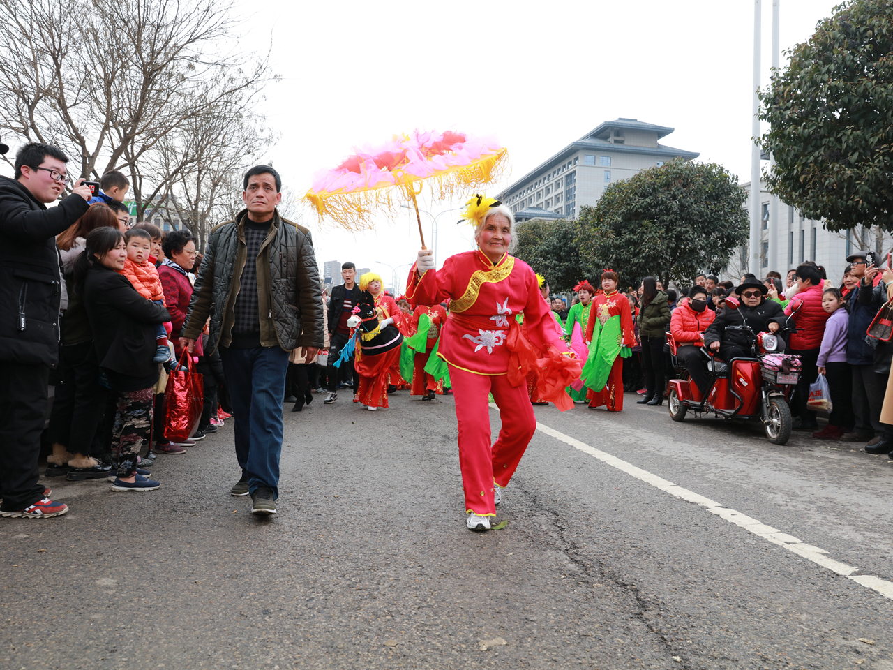
[[[732,358],[751,356],[751,336],[744,332],[727,331],[729,326],[750,326],[754,334],[763,331],[779,330],[779,321],[785,318],[784,310],[774,300],[767,300],[769,292],[762,281],[747,279],[742,281],[735,294],[740,297],[738,309],[726,309],[719,314],[704,333],[704,344],[717,352],[728,363]],[[784,343],[780,344],[781,350]]]

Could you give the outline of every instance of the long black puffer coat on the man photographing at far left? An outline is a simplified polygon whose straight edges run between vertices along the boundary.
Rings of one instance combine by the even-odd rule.
[[[55,367],[62,272],[55,236],[87,212],[76,195],[47,208],[0,177],[0,361]]]

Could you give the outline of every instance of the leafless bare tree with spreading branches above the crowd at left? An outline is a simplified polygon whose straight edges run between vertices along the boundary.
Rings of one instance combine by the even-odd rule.
[[[196,129],[221,137],[221,124],[256,123],[248,110],[272,79],[266,58],[228,50],[233,0],[0,0],[0,9],[0,128],[62,147],[81,176],[129,169],[138,218],[196,169],[208,172],[213,160],[190,142]]]

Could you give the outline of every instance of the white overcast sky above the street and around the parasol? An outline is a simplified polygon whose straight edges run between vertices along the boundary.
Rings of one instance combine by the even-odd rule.
[[[772,0],[763,0],[763,85]],[[782,52],[836,1],[781,0]],[[413,129],[493,135],[509,150],[496,193],[603,121],[676,130],[662,143],[750,179],[753,0],[355,2],[238,0],[238,50],[265,53],[279,83],[257,108],[280,139],[267,160],[296,195],[352,147]],[[786,58],[782,54],[782,67]],[[8,140],[7,140],[8,141]],[[8,171],[4,171],[8,172]],[[462,202],[421,202],[439,214]],[[414,215],[352,234],[309,211],[317,259],[354,261],[390,283],[419,248]],[[438,265],[472,248],[456,213],[439,218]],[[422,214],[426,230],[430,219]],[[426,233],[427,237],[427,233]],[[429,242],[430,246],[430,242]],[[406,268],[400,268],[404,281]]]

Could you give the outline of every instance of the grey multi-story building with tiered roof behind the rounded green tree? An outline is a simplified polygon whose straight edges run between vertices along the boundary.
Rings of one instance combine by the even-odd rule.
[[[674,129],[636,119],[605,121],[497,194],[518,221],[572,219],[583,205],[595,205],[610,183],[699,154],[667,147],[659,139]]]

